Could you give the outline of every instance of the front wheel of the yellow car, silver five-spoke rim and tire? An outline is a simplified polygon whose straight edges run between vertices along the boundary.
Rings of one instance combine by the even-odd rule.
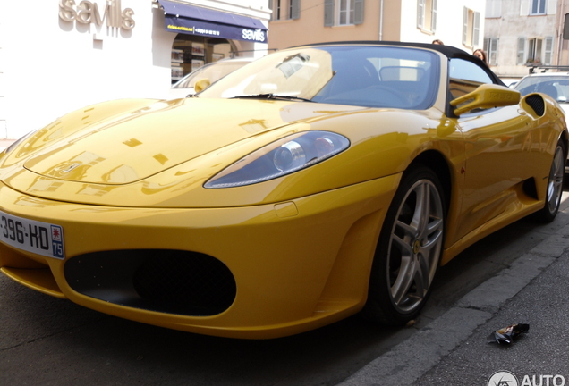
[[[403,174],[379,235],[363,315],[408,323],[425,305],[443,252],[446,206],[437,175],[419,166]]]

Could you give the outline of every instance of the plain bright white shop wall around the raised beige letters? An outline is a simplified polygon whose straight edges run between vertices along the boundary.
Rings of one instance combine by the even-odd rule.
[[[91,1],[102,16],[106,1]],[[187,3],[219,5],[268,22],[264,0]],[[106,21],[100,27],[63,21],[59,0],[0,2],[0,138],[19,138],[85,105],[167,96],[175,34],[165,30],[164,13],[150,0],[122,0],[121,5],[134,11],[130,31],[106,28]],[[267,47],[239,46],[265,52]]]

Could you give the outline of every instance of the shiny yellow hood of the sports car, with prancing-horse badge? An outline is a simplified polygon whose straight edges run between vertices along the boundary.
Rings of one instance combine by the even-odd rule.
[[[4,157],[57,180],[120,185],[291,122],[357,108],[259,100],[118,101],[68,114]]]

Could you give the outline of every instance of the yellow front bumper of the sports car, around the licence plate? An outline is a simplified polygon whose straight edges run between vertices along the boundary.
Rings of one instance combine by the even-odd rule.
[[[63,260],[0,243],[0,267],[34,290],[142,323],[234,338],[291,335],[352,315],[365,304],[380,225],[399,179],[397,174],[274,205],[206,209],[69,204],[0,185],[2,211],[60,225],[65,243]],[[202,315],[156,306],[156,299],[155,306],[137,300],[144,291],[132,285],[128,272],[138,269],[148,251],[157,252],[155,264],[160,251],[211,256],[233,276],[234,298],[221,311]],[[88,256],[89,264],[77,264]],[[97,271],[97,256],[105,256],[101,270],[103,263],[130,264],[124,280],[111,285],[104,279],[103,290],[97,290],[98,278],[82,286],[70,282],[85,282]],[[130,302],[116,290],[123,284]]]

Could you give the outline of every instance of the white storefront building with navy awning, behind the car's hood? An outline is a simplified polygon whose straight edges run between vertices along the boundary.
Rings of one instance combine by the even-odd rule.
[[[166,97],[204,63],[267,53],[267,0],[23,3],[0,2],[0,138],[85,105]]]

